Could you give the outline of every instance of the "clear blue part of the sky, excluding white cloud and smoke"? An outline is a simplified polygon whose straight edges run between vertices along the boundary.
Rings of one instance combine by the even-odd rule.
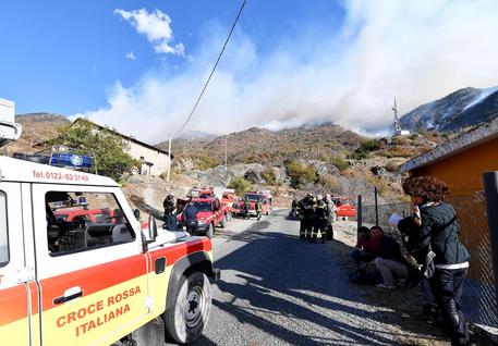
[[[2,1],[0,4],[0,95],[17,103],[17,112],[82,113],[106,104],[107,88],[120,81],[133,85],[144,73],[167,69],[181,73],[190,62],[174,54],[157,54],[144,36],[124,22],[116,9],[156,9],[172,18],[174,41],[192,54],[206,39],[206,27],[228,29],[239,1]],[[325,25],[340,21],[333,1],[250,0],[239,23],[271,49],[296,35],[304,22]],[[228,33],[228,32],[227,32]],[[220,33],[221,34],[221,33]],[[221,37],[217,37],[221,39]],[[133,52],[136,60],[126,59]],[[305,58],[305,57],[304,57]]]

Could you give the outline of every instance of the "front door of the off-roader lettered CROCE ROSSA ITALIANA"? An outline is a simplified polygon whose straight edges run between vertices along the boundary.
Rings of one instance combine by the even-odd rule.
[[[88,206],[75,202],[82,195]],[[122,217],[61,222],[51,214],[54,203]],[[147,258],[118,188],[34,184],[33,218],[44,345],[108,345],[145,323]]]

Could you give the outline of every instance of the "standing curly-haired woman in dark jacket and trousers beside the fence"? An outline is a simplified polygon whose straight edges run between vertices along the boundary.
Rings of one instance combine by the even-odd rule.
[[[460,226],[453,207],[442,201],[449,190],[448,185],[434,177],[417,176],[405,180],[403,190],[411,197],[416,210],[420,252],[432,250],[436,255],[429,285],[441,310],[451,345],[466,345],[469,333],[461,310],[461,297],[470,255],[459,242]]]

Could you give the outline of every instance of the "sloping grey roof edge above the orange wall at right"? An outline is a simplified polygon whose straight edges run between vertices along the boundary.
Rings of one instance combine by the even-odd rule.
[[[400,172],[404,173],[429,165],[495,138],[498,138],[498,118],[406,161],[400,165]]]

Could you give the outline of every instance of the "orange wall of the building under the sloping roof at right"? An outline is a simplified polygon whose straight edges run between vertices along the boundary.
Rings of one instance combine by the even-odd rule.
[[[416,169],[411,175],[437,177],[448,184],[451,195],[465,195],[482,190],[483,173],[489,171],[498,171],[498,138]]]

